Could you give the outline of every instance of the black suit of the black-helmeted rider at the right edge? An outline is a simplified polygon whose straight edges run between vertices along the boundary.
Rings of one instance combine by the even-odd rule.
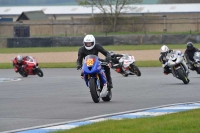
[[[199,49],[194,47],[192,50],[186,49],[185,53],[184,53],[187,62],[190,64],[190,69],[191,70],[195,70],[196,69],[194,67],[194,59],[193,59],[193,56],[194,56],[195,52],[200,52],[200,51],[199,51]]]

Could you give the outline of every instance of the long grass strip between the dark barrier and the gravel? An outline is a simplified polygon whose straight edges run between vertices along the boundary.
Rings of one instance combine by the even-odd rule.
[[[159,50],[161,44],[142,44],[142,45],[113,45],[103,46],[106,50],[122,51],[122,50]],[[186,44],[169,44],[170,49],[185,49]],[[200,48],[200,44],[195,44]],[[31,47],[31,48],[1,48],[0,54],[7,53],[41,53],[41,52],[78,52],[80,47]]]

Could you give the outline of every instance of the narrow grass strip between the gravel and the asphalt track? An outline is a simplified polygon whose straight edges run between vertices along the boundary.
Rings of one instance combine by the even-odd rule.
[[[137,61],[136,66],[138,67],[160,67],[159,61]],[[75,62],[66,63],[39,63],[40,68],[76,68]],[[0,63],[0,69],[13,68],[12,63]]]

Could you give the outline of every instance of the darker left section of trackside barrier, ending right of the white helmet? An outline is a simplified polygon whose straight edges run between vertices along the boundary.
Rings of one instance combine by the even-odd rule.
[[[46,37],[46,38],[8,38],[7,47],[58,47],[82,46],[84,37]],[[113,45],[113,37],[96,37],[96,42],[102,45]]]

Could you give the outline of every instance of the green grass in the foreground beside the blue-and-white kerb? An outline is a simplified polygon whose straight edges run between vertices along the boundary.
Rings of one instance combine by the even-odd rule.
[[[108,120],[53,133],[200,133],[200,109],[157,117]]]

